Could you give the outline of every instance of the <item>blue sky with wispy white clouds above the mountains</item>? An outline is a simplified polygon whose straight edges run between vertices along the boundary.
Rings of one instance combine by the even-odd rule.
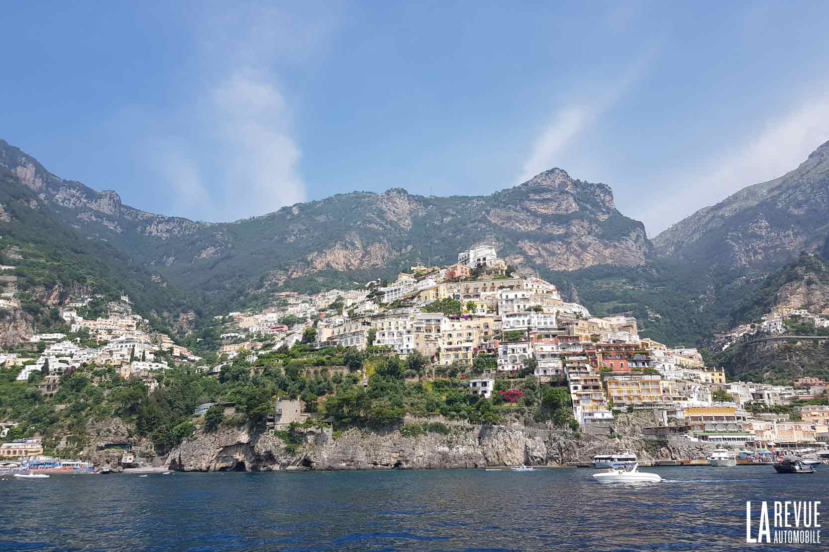
[[[149,211],[490,194],[554,166],[655,235],[829,140],[824,2],[20,2],[0,137]]]

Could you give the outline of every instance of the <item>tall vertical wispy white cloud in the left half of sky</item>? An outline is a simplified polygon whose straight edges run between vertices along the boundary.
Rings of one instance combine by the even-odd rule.
[[[153,128],[163,145],[153,148],[154,165],[181,208],[173,210],[235,220],[303,201],[295,109],[279,68],[306,61],[330,31],[330,17],[256,3],[207,12],[193,23],[200,74],[191,102],[175,127]]]

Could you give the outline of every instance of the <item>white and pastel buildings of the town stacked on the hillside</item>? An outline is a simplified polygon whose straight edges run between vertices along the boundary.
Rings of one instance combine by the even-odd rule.
[[[612,434],[618,415],[636,413],[648,420],[641,430],[645,439],[755,450],[829,443],[825,401],[785,410],[825,398],[827,382],[815,377],[787,386],[729,382],[721,368],[705,365],[696,348],[642,338],[630,316],[593,316],[583,305],[563,300],[554,284],[519,275],[486,244],[459,252],[458,262],[449,266],[411,266],[395,281],[316,295],[281,291],[264,310],[217,315],[215,361],[150,331],[148,320],[133,314],[127,295],[108,301],[105,316],[85,319],[79,311],[94,299],[72,298],[61,309],[70,335],[32,335],[36,358],[2,353],[0,364],[18,367],[19,382],[41,374],[37,385],[43,396],[54,396],[63,378],[90,366],[112,367],[152,393],[163,372],[176,365],[222,377],[240,355],[254,364],[260,355],[298,345],[371,351],[402,361],[418,358],[424,368],[407,373],[407,379],[452,377],[471,401],[500,407],[531,406],[540,401],[531,396],[542,394],[534,389],[563,389],[570,398],[570,423],[590,434]],[[750,331],[773,333],[792,314],[808,316],[776,310]],[[822,319],[814,317],[814,323]],[[727,337],[742,338],[745,328]],[[357,381],[367,385],[366,367],[358,363],[351,371],[355,368]],[[279,398],[270,427],[307,420],[306,403]],[[203,417],[212,406],[202,405],[194,415]],[[13,425],[12,420],[7,428]],[[32,435],[7,442],[0,458],[42,454],[39,443]]]

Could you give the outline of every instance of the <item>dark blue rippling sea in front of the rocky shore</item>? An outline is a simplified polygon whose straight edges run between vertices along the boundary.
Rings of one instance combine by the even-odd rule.
[[[58,475],[0,480],[0,550],[829,550],[829,467]],[[823,501],[820,545],[749,545],[746,501]],[[754,531],[759,510],[754,515]]]

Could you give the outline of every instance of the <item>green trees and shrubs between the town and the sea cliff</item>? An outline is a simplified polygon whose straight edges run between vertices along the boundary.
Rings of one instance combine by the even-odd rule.
[[[135,439],[152,443],[158,454],[166,454],[199,426],[208,432],[222,424],[264,429],[279,398],[301,399],[306,411],[318,413],[318,420],[331,420],[336,430],[400,425],[405,415],[491,425],[507,412],[524,412],[556,425],[574,422],[569,393],[547,389],[542,396],[532,378],[497,380],[497,394],[484,399],[468,394],[466,378],[472,370],[466,367],[442,367],[434,380],[419,381],[419,375],[425,375],[424,363],[417,362],[416,355],[401,362],[396,356],[353,348],[317,351],[298,345],[260,353],[255,362],[248,362],[248,357],[241,351],[216,377],[195,367],[154,372],[161,386],[152,392],[148,380],[124,380],[114,368],[82,365],[61,377],[56,395],[42,396],[40,372],[17,382],[19,368],[2,370],[0,418],[20,422],[13,437],[41,434],[47,450],[62,446],[63,454],[90,444],[95,426],[111,418],[123,420]],[[343,372],[349,365],[356,369]],[[199,419],[193,412],[205,403],[216,406]],[[225,408],[234,414],[225,416]],[[66,438],[62,444],[59,435]]]

